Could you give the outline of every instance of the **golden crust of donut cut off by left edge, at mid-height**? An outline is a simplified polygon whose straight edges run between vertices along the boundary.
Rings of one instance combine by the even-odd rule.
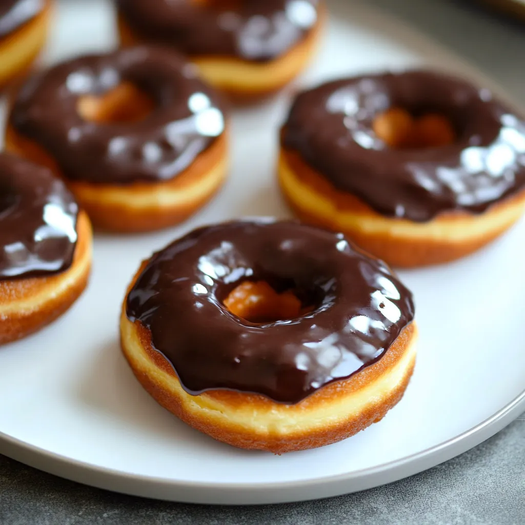
[[[71,267],[49,277],[0,280],[0,344],[22,339],[53,322],[79,298],[91,268],[92,233],[87,214],[77,219]]]

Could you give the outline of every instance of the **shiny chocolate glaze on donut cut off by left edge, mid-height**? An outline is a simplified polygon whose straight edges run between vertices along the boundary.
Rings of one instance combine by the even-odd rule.
[[[45,167],[0,154],[0,281],[67,270],[78,206]]]

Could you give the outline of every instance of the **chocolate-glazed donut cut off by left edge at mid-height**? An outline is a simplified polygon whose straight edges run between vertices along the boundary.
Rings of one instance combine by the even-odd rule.
[[[64,313],[86,288],[91,226],[47,168],[0,154],[0,344]]]

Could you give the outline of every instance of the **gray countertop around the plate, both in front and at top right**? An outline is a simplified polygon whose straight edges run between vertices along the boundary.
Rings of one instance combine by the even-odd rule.
[[[525,25],[459,2],[369,0],[434,37],[525,104]],[[467,453],[394,484],[266,507],[152,501],[65,481],[0,455],[0,524],[393,525],[525,523],[525,417]]]

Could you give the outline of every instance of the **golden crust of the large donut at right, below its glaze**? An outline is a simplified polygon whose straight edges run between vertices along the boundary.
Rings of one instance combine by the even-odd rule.
[[[425,223],[389,218],[361,199],[338,191],[301,156],[281,148],[279,183],[290,207],[309,224],[340,231],[358,246],[397,267],[449,262],[489,244],[525,211],[525,191],[481,214],[441,213]]]

